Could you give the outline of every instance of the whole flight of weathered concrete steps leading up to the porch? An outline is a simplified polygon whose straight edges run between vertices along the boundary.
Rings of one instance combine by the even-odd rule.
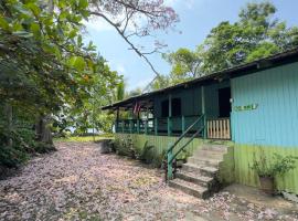
[[[217,175],[226,152],[227,146],[204,145],[188,158],[169,186],[198,198],[209,198],[221,188]]]

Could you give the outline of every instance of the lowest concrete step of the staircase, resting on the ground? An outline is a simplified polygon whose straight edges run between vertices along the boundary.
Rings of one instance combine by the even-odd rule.
[[[205,187],[201,187],[199,185],[194,185],[192,182],[188,182],[181,179],[170,180],[169,186],[175,189],[180,189],[188,194],[202,199],[206,199],[210,196],[209,190]]]

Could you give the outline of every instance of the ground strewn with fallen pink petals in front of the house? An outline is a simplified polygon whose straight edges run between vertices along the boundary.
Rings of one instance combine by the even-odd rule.
[[[241,186],[204,201],[169,188],[162,170],[102,155],[98,144],[56,146],[0,181],[0,220],[298,220],[297,204]]]

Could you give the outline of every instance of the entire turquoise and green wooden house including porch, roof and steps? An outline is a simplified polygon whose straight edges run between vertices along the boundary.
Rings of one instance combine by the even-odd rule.
[[[103,107],[117,116],[115,136],[167,151],[171,162],[191,157],[170,183],[206,197],[222,183],[259,186],[254,156],[298,156],[298,50],[224,70]],[[127,118],[121,118],[126,112]],[[259,151],[259,149],[263,151]],[[195,186],[194,186],[195,185]],[[277,178],[298,193],[298,167]]]

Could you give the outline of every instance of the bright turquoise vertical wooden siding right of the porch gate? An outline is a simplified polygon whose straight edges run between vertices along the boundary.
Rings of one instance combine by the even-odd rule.
[[[235,143],[298,147],[298,63],[233,78],[231,84]],[[235,110],[252,104],[257,108]]]

